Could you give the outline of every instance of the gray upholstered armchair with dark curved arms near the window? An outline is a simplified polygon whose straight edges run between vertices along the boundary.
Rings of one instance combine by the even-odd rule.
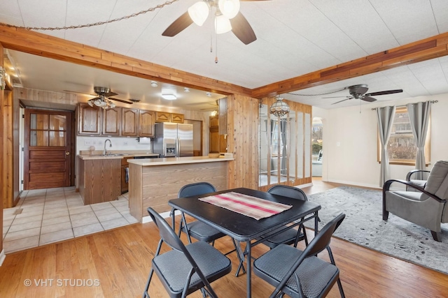
[[[391,191],[393,183],[405,184],[416,191]],[[388,180],[383,186],[383,220],[389,212],[428,228],[440,241],[440,223],[448,222],[448,161],[437,161],[423,187],[405,180]]]

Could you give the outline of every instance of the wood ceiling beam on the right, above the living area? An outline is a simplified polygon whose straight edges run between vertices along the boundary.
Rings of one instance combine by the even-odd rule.
[[[446,56],[448,55],[447,44],[448,33],[442,33],[344,64],[252,89],[252,96],[255,98],[274,96]]]

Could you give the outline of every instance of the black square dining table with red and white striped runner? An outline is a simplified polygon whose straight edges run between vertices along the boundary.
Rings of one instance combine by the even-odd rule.
[[[174,210],[211,225],[235,241],[246,243],[241,255],[241,260],[246,258],[246,297],[251,297],[251,248],[262,243],[264,239],[312,218],[316,234],[318,210],[321,209],[321,205],[315,202],[251,188],[232,188],[188,198],[176,198],[169,200],[168,204]]]

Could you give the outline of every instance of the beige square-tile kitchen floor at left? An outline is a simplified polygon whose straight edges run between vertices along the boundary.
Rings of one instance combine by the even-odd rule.
[[[3,209],[3,248],[13,253],[131,223],[127,193],[85,206],[74,186],[23,191],[17,206]]]

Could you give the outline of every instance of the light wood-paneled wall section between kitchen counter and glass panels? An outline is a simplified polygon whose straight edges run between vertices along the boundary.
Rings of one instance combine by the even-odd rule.
[[[235,161],[229,163],[229,188],[258,189],[258,99],[228,96],[228,152]]]

